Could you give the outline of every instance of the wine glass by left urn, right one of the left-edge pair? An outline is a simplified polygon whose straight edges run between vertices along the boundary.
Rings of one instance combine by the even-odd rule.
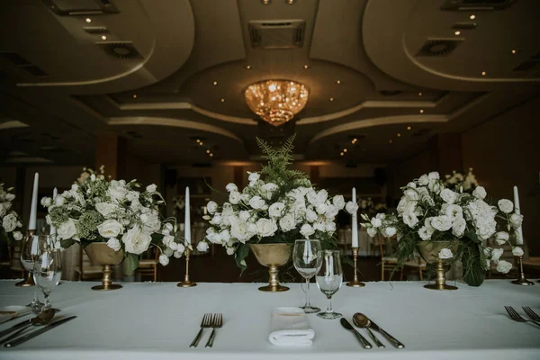
[[[40,237],[40,255],[36,258],[33,269],[34,282],[45,296],[45,304],[41,311],[50,309],[49,295],[62,277],[60,250],[51,240],[50,237]]]

